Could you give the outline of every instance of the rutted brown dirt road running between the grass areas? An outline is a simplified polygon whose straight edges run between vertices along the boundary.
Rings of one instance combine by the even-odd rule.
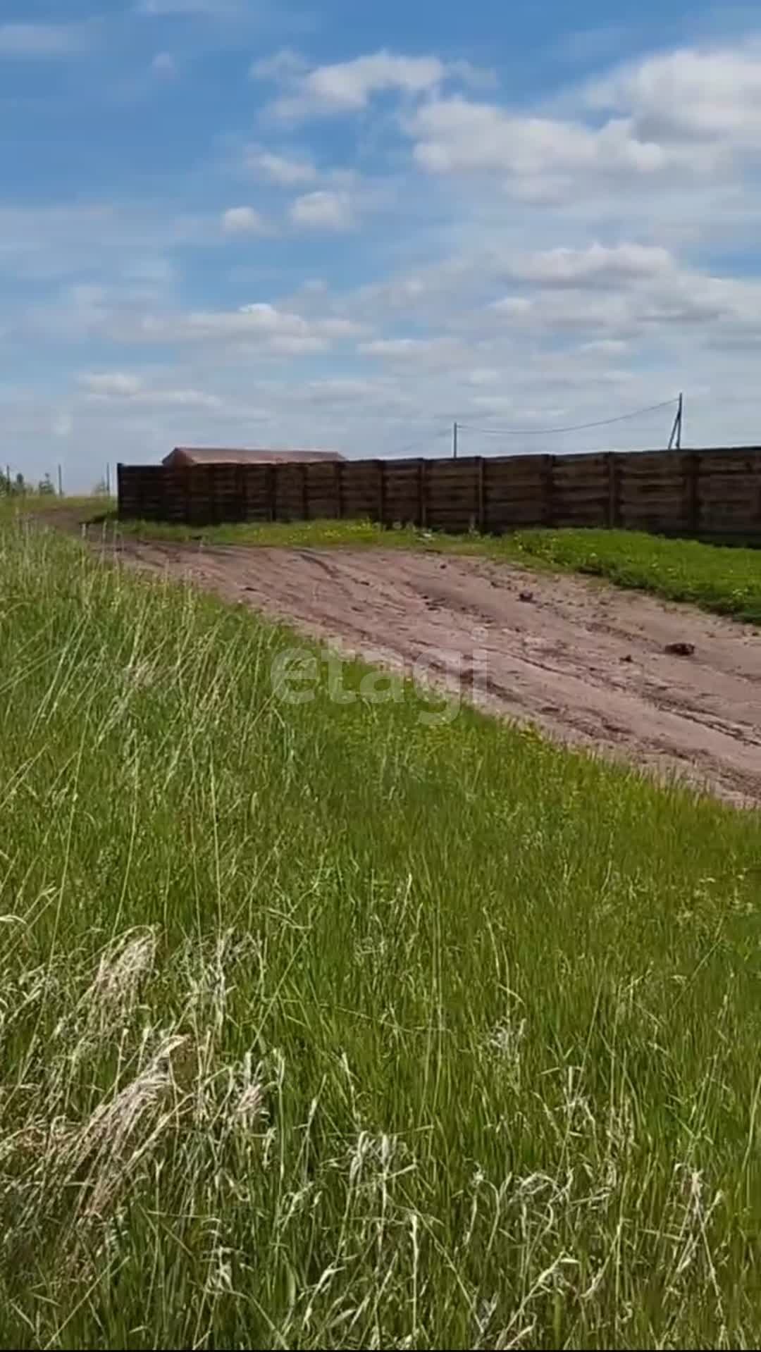
[[[343,652],[626,757],[761,803],[758,630],[596,581],[397,550],[212,549],[124,541],[124,562],[287,619]],[[529,595],[530,594],[530,595]],[[666,645],[692,644],[691,657]]]

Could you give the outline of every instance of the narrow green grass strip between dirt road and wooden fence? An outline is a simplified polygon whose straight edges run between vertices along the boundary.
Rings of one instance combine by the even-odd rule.
[[[703,610],[761,623],[761,550],[666,539],[627,530],[516,530],[508,535],[443,535],[373,522],[315,521],[227,525],[193,530],[157,522],[119,527],[141,538],[295,549],[428,549],[518,562],[526,568],[587,573],[618,587],[692,602]]]

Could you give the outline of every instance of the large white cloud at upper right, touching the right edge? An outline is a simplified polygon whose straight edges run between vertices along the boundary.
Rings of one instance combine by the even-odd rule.
[[[556,107],[562,115],[439,95],[404,127],[422,169],[496,174],[529,203],[610,195],[614,184],[630,200],[647,187],[716,192],[761,158],[761,39],[630,62]]]

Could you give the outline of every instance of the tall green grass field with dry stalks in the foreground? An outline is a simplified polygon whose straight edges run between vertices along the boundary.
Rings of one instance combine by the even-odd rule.
[[[758,815],[291,641],[0,522],[0,1344],[756,1345]]]

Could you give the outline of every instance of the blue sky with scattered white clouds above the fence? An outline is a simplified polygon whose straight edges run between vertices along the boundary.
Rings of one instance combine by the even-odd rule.
[[[1,0],[0,115],[32,477],[761,441],[758,5]]]

